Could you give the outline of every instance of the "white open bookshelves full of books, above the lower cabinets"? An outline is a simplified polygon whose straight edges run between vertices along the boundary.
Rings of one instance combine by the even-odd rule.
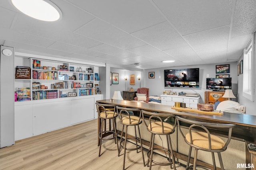
[[[94,71],[92,65],[30,58],[25,66],[16,66],[15,91],[30,88],[30,100],[53,99],[53,90],[54,98],[94,95],[94,84],[99,84],[99,75]],[[70,92],[77,95],[68,96]]]

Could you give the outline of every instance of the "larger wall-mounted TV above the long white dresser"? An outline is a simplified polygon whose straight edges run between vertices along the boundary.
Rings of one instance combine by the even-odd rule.
[[[199,88],[199,68],[164,70],[164,86]]]

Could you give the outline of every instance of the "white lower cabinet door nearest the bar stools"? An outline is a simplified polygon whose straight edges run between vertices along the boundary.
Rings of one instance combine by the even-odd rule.
[[[71,101],[71,124],[94,119],[94,98]]]

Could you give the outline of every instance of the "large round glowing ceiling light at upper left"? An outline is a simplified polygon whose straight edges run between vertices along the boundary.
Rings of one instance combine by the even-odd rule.
[[[57,21],[62,17],[60,9],[50,0],[11,0],[23,14],[42,21]]]

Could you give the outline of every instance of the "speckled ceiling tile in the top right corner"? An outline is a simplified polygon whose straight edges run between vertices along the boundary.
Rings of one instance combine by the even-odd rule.
[[[256,1],[236,1],[236,10],[231,37],[251,34],[256,31]]]

